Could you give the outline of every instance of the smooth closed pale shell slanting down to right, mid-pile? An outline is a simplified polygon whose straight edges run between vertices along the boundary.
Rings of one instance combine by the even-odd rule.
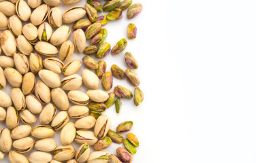
[[[61,86],[61,79],[57,73],[50,70],[42,69],[38,72],[39,77],[42,79],[44,84],[50,88],[57,88]]]

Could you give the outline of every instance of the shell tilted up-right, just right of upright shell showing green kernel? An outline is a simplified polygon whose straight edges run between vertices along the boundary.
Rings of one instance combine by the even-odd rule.
[[[61,46],[61,44],[67,40],[70,33],[71,30],[69,29],[69,26],[60,26],[54,33],[52,33],[50,43],[52,43],[53,46]]]

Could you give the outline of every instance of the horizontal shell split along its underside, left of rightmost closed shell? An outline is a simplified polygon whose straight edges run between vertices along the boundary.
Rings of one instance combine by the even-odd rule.
[[[67,97],[69,101],[75,105],[87,105],[89,102],[89,96],[80,90],[69,91]]]

